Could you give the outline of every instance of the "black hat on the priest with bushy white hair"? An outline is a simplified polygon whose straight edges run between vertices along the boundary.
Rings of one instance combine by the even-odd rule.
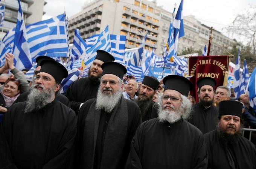
[[[185,96],[193,88],[193,84],[189,79],[179,75],[165,76],[163,78],[163,84],[165,85],[164,91],[167,89],[176,90]]]

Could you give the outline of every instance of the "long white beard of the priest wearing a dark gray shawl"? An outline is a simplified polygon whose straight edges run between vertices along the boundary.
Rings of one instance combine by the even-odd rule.
[[[114,107],[119,102],[122,96],[122,91],[118,90],[107,96],[102,93],[100,87],[98,89],[95,108],[98,110],[105,110],[107,113],[111,113]]]

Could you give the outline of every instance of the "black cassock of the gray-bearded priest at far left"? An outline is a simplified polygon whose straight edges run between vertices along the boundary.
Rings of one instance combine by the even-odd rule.
[[[0,168],[68,168],[76,136],[75,112],[56,99],[39,111],[25,114],[24,107],[25,102],[12,105],[3,118]]]

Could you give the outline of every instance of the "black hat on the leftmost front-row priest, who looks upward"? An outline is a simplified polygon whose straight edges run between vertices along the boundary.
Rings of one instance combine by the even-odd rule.
[[[61,83],[62,79],[69,75],[67,69],[55,60],[44,59],[41,61],[40,66],[41,69],[39,72],[49,73],[58,83]]]

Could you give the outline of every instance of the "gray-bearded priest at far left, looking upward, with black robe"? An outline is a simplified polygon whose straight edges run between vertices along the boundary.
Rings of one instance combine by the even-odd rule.
[[[45,59],[27,102],[16,103],[0,127],[0,168],[67,168],[76,135],[75,112],[55,99],[68,72]]]

